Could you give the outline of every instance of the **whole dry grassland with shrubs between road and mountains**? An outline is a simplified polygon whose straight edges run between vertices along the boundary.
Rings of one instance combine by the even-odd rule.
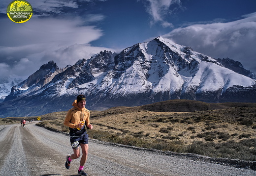
[[[91,111],[94,129],[88,134],[124,145],[256,161],[256,103],[203,103],[208,110],[192,112],[166,111],[164,103]],[[193,101],[186,101],[186,106],[189,103]],[[175,108],[182,111],[181,106]],[[40,116],[38,125],[68,132],[65,115],[66,111]]]

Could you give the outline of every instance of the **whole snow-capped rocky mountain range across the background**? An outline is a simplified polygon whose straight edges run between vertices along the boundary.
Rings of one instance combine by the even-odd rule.
[[[68,110],[78,94],[86,95],[91,110],[171,99],[256,102],[256,80],[222,61],[157,37],[120,53],[105,50],[80,59],[48,81],[33,74],[12,88],[0,113],[32,116]],[[51,73],[58,70],[55,63],[51,68]]]

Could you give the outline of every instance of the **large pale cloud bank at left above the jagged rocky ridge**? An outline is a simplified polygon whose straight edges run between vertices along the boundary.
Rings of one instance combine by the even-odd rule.
[[[32,1],[33,16],[29,22],[15,24],[0,18],[0,79],[29,75],[53,60],[59,67],[73,65],[81,58],[90,58],[101,50],[90,46],[103,31],[92,23],[101,22],[101,14],[76,13],[79,4],[105,0]],[[9,0],[2,0],[0,13],[6,14]],[[79,10],[78,10],[79,11]]]

